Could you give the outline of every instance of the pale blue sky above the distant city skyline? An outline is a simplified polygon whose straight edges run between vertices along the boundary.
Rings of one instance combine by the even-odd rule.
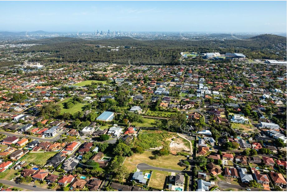
[[[0,1],[0,31],[286,33],[286,1]]]

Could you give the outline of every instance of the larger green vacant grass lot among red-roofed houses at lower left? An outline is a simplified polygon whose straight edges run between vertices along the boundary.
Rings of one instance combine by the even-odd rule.
[[[57,152],[47,152],[47,153],[29,153],[21,161],[26,161],[28,163],[33,163],[35,165],[45,165],[50,157],[53,157]]]

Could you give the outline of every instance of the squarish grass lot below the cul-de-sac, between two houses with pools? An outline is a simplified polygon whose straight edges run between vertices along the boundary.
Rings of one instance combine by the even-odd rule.
[[[171,172],[153,170],[148,186],[162,190],[164,189],[166,177],[170,175]]]

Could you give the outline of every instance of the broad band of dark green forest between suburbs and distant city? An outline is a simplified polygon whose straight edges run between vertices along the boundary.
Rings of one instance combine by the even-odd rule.
[[[85,40],[68,37],[56,37],[31,40],[22,43],[39,43],[21,52],[49,52],[53,59],[49,61],[67,62],[114,62],[119,64],[176,65],[180,52],[199,51],[200,53],[243,53],[250,59],[284,59],[286,49],[276,55],[274,49],[278,43],[286,47],[286,38],[278,35],[264,34],[250,39],[235,40],[136,40],[119,37],[104,40]],[[101,45],[104,47],[96,47]],[[108,47],[110,46],[110,47]],[[132,48],[112,48],[130,46]],[[111,48],[112,47],[112,48]],[[284,53],[283,53],[284,52]],[[49,56],[50,58],[50,56]],[[45,58],[35,58],[42,61]],[[47,59],[45,60],[47,61]]]

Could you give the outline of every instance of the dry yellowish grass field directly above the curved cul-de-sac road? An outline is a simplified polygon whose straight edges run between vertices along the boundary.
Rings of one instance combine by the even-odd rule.
[[[131,157],[127,157],[124,165],[129,172],[136,170],[136,165],[139,163],[146,163],[154,167],[162,167],[167,169],[183,170],[185,167],[178,165],[179,160],[185,159],[184,156],[167,155],[158,157],[157,159],[151,159],[153,157],[150,151],[145,151],[142,154],[135,153]]]

